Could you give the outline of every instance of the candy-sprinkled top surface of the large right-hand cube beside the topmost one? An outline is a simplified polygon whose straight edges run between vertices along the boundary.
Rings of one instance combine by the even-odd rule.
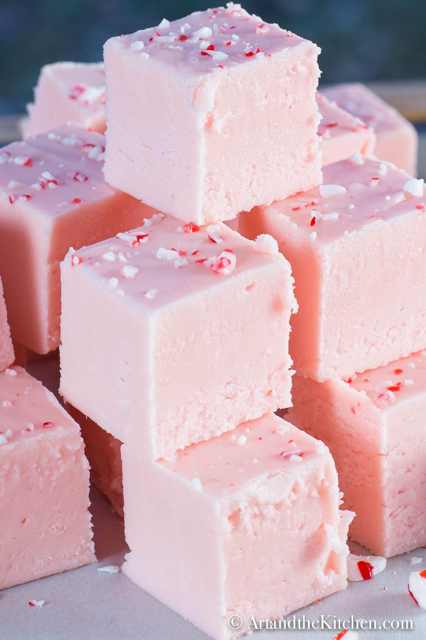
[[[423,180],[392,163],[354,154],[323,167],[323,184],[274,202],[266,211],[283,216],[310,241],[329,244],[369,225],[426,212]]]

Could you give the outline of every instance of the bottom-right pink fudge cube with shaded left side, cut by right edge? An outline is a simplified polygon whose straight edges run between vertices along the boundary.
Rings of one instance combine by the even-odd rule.
[[[426,355],[347,380],[294,376],[286,417],[330,447],[353,540],[385,557],[426,545]]]

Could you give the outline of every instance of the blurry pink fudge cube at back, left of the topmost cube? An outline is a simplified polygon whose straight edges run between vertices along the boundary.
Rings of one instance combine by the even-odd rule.
[[[45,65],[34,89],[34,104],[24,138],[49,131],[66,122],[103,133],[105,122],[105,73],[103,63],[56,62]]]

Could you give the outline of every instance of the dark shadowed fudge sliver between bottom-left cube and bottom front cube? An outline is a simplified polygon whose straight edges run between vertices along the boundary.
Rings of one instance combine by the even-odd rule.
[[[66,410],[78,422],[84,440],[84,452],[90,465],[90,481],[110,501],[121,518],[123,511],[123,471],[120,448],[123,444],[100,428],[72,404]]]

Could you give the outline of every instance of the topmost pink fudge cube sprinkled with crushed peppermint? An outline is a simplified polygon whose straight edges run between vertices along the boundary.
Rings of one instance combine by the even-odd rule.
[[[232,3],[110,38],[105,178],[197,225],[316,186],[319,51]]]

